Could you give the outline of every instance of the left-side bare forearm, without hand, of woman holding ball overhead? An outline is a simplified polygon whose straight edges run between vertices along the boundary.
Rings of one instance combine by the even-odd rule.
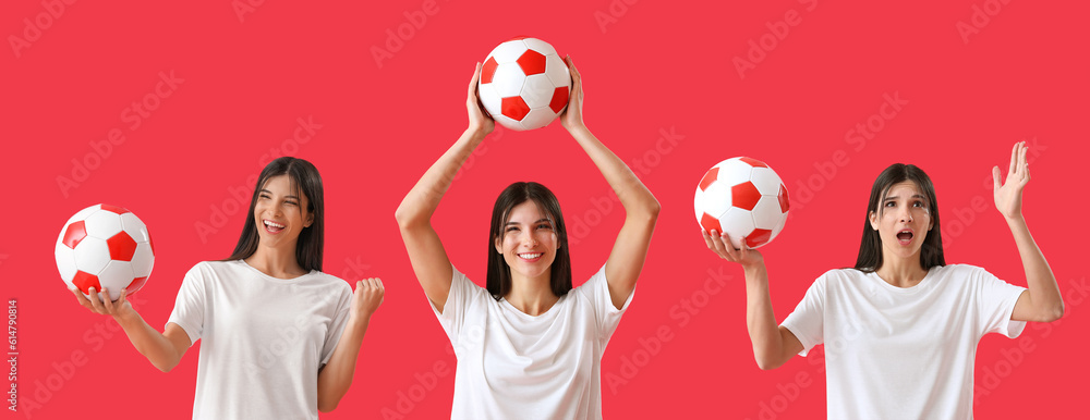
[[[470,153],[476,149],[485,135],[473,129],[462,133],[439,159],[421,176],[405,198],[398,206],[397,220],[402,226],[431,220],[435,209],[439,207],[443,195],[450,188],[450,183],[458,169],[461,168]]]

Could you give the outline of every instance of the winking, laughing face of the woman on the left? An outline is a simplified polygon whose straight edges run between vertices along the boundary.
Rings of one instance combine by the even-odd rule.
[[[257,195],[254,220],[261,246],[295,246],[299,233],[314,223],[306,196],[296,197],[288,175],[270,177]]]

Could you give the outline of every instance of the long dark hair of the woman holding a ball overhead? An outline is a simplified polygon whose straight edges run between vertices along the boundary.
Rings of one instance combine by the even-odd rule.
[[[526,201],[533,201],[545,213],[553,224],[560,249],[549,268],[549,286],[557,297],[571,291],[571,258],[568,256],[568,231],[564,226],[564,214],[560,213],[560,202],[544,185],[538,183],[514,183],[508,185],[492,208],[492,227],[488,230],[488,293],[496,300],[511,292],[511,267],[499,252],[496,252],[496,239],[504,235],[504,225],[511,215],[511,209]]]

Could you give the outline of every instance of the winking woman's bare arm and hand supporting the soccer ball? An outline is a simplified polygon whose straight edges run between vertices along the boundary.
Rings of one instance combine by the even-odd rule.
[[[89,292],[90,298],[88,299],[78,289],[72,289],[72,294],[84,308],[95,313],[113,317],[113,320],[125,331],[133,347],[136,347],[136,351],[144,355],[157,369],[169,372],[182,360],[182,356],[185,355],[185,350],[190,348],[192,343],[190,343],[189,334],[181,326],[171,322],[167,324],[167,329],[162,333],[159,333],[152,325],[148,325],[144,318],[141,318],[129,300],[125,300],[126,291],[123,288],[118,301],[110,301],[110,293],[107,289],[102,289],[101,294],[106,297],[105,299],[99,297],[94,287]]]

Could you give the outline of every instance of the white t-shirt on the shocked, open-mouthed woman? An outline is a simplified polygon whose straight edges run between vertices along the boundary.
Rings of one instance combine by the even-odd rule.
[[[831,270],[783,325],[804,347],[825,344],[829,419],[972,418],[972,368],[986,333],[1010,338],[1026,288],[979,267],[934,267],[912,287]]]

